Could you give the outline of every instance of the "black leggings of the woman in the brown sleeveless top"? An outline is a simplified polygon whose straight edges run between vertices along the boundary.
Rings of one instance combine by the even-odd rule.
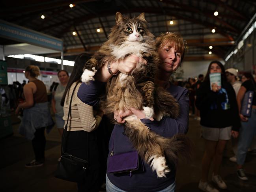
[[[35,137],[32,139],[32,146],[37,162],[45,161],[45,127],[36,129]]]

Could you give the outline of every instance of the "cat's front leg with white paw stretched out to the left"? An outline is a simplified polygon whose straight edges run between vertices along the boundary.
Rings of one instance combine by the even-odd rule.
[[[84,66],[84,73],[81,76],[81,81],[84,83],[88,83],[90,80],[94,81],[94,75],[97,72],[95,69],[95,66],[97,66],[97,60],[92,58],[86,62]]]

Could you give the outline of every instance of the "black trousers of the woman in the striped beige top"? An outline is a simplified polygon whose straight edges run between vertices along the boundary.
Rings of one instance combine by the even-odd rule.
[[[101,184],[99,177],[101,168],[99,163],[97,135],[95,132],[86,132],[84,130],[68,131],[66,147],[67,153],[82,159],[87,160],[88,153],[88,173],[84,182],[77,183],[78,192],[99,192],[99,185]]]

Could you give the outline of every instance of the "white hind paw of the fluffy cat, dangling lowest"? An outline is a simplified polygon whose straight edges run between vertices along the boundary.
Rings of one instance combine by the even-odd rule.
[[[169,173],[171,170],[168,168],[168,165],[166,165],[165,157],[157,157],[156,155],[149,158],[151,160],[151,168],[152,171],[157,172],[157,177],[166,177],[165,174]]]

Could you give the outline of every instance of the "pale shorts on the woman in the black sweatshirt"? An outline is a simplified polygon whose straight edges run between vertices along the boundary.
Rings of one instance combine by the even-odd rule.
[[[230,140],[232,127],[213,128],[202,126],[202,137],[210,141]]]

